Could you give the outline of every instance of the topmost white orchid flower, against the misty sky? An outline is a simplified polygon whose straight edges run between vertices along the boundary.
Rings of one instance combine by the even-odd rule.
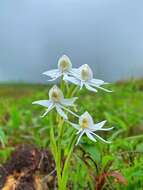
[[[58,60],[58,68],[44,72],[44,75],[49,76],[51,79],[49,81],[54,81],[60,77],[64,76],[74,76],[75,70],[72,68],[71,60],[68,56],[63,55]]]

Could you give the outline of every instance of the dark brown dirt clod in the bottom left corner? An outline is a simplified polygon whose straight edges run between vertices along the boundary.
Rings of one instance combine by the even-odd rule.
[[[50,152],[32,145],[21,145],[0,167],[1,190],[48,190],[53,188],[55,173]],[[52,172],[52,180],[43,179]],[[43,184],[44,181],[44,184]]]

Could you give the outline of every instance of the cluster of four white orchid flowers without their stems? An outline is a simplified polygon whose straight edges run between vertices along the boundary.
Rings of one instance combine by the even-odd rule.
[[[73,83],[76,86],[79,86],[80,89],[85,87],[87,90],[92,92],[97,92],[98,89],[104,90],[106,92],[111,92],[108,89],[102,87],[105,85],[103,80],[95,79],[93,77],[93,71],[89,65],[84,64],[79,68],[72,68],[71,60],[68,56],[63,55],[58,60],[58,68],[49,70],[43,73],[50,77],[49,81],[55,81],[61,78],[65,81],[66,84]],[[48,100],[38,100],[33,102],[33,104],[38,104],[44,106],[46,108],[45,113],[42,117],[46,116],[51,110],[55,109],[56,112],[67,122],[69,123],[74,129],[77,130],[78,139],[76,145],[80,142],[81,137],[86,134],[86,136],[91,140],[96,142],[97,139],[105,142],[110,143],[104,140],[102,137],[96,134],[96,131],[110,131],[112,128],[103,128],[106,121],[101,121],[99,123],[94,124],[92,116],[85,111],[81,116],[74,113],[69,107],[74,107],[75,102],[78,98],[71,97],[65,98],[62,90],[54,85],[49,90],[49,99]],[[73,123],[68,120],[67,113],[70,113],[78,118],[78,123]]]

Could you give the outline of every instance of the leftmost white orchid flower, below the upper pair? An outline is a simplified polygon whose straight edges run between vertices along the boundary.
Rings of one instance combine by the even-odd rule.
[[[68,106],[74,106],[74,102],[76,101],[76,99],[77,97],[73,97],[70,99],[64,98],[63,92],[56,85],[54,85],[49,90],[49,100],[39,100],[33,102],[32,104],[38,104],[47,108],[46,112],[42,115],[42,117],[47,115],[52,109],[55,108],[57,113],[65,120],[67,120],[68,117],[63,109],[75,115],[76,117],[79,117],[77,114],[66,108]]]

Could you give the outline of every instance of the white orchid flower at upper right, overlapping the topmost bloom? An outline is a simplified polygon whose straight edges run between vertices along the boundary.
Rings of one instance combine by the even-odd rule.
[[[80,89],[82,89],[83,86],[85,86],[88,90],[93,92],[97,92],[97,88],[104,90],[106,92],[112,92],[110,90],[101,87],[101,85],[107,83],[105,83],[103,80],[94,79],[93,71],[87,64],[84,64],[78,69],[76,69],[74,72],[74,77],[65,75],[64,80],[74,83],[77,86],[80,86]]]

